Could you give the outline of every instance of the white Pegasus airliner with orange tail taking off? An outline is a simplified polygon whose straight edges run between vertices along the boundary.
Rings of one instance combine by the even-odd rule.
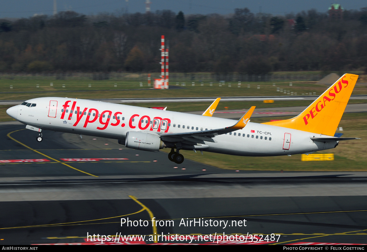
[[[268,123],[250,122],[255,107],[238,121],[211,117],[219,98],[203,115],[60,97],[30,99],[7,114],[39,132],[39,142],[42,130],[114,138],[138,150],[171,148],[168,158],[176,163],[183,162],[180,150],[240,156],[310,154],[357,139],[334,135],[357,78],[343,75],[298,116]]]

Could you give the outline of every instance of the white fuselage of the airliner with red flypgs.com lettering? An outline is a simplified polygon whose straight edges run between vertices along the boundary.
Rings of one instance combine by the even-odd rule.
[[[36,105],[8,109],[13,118],[26,125],[119,140],[124,140],[129,131],[189,133],[236,123],[230,119],[82,99],[44,97],[27,102]],[[337,141],[314,142],[310,137],[328,136],[249,122],[241,130],[215,136],[216,143],[205,141],[201,146],[195,145],[195,149],[241,156],[277,156],[312,153],[337,144]]]

